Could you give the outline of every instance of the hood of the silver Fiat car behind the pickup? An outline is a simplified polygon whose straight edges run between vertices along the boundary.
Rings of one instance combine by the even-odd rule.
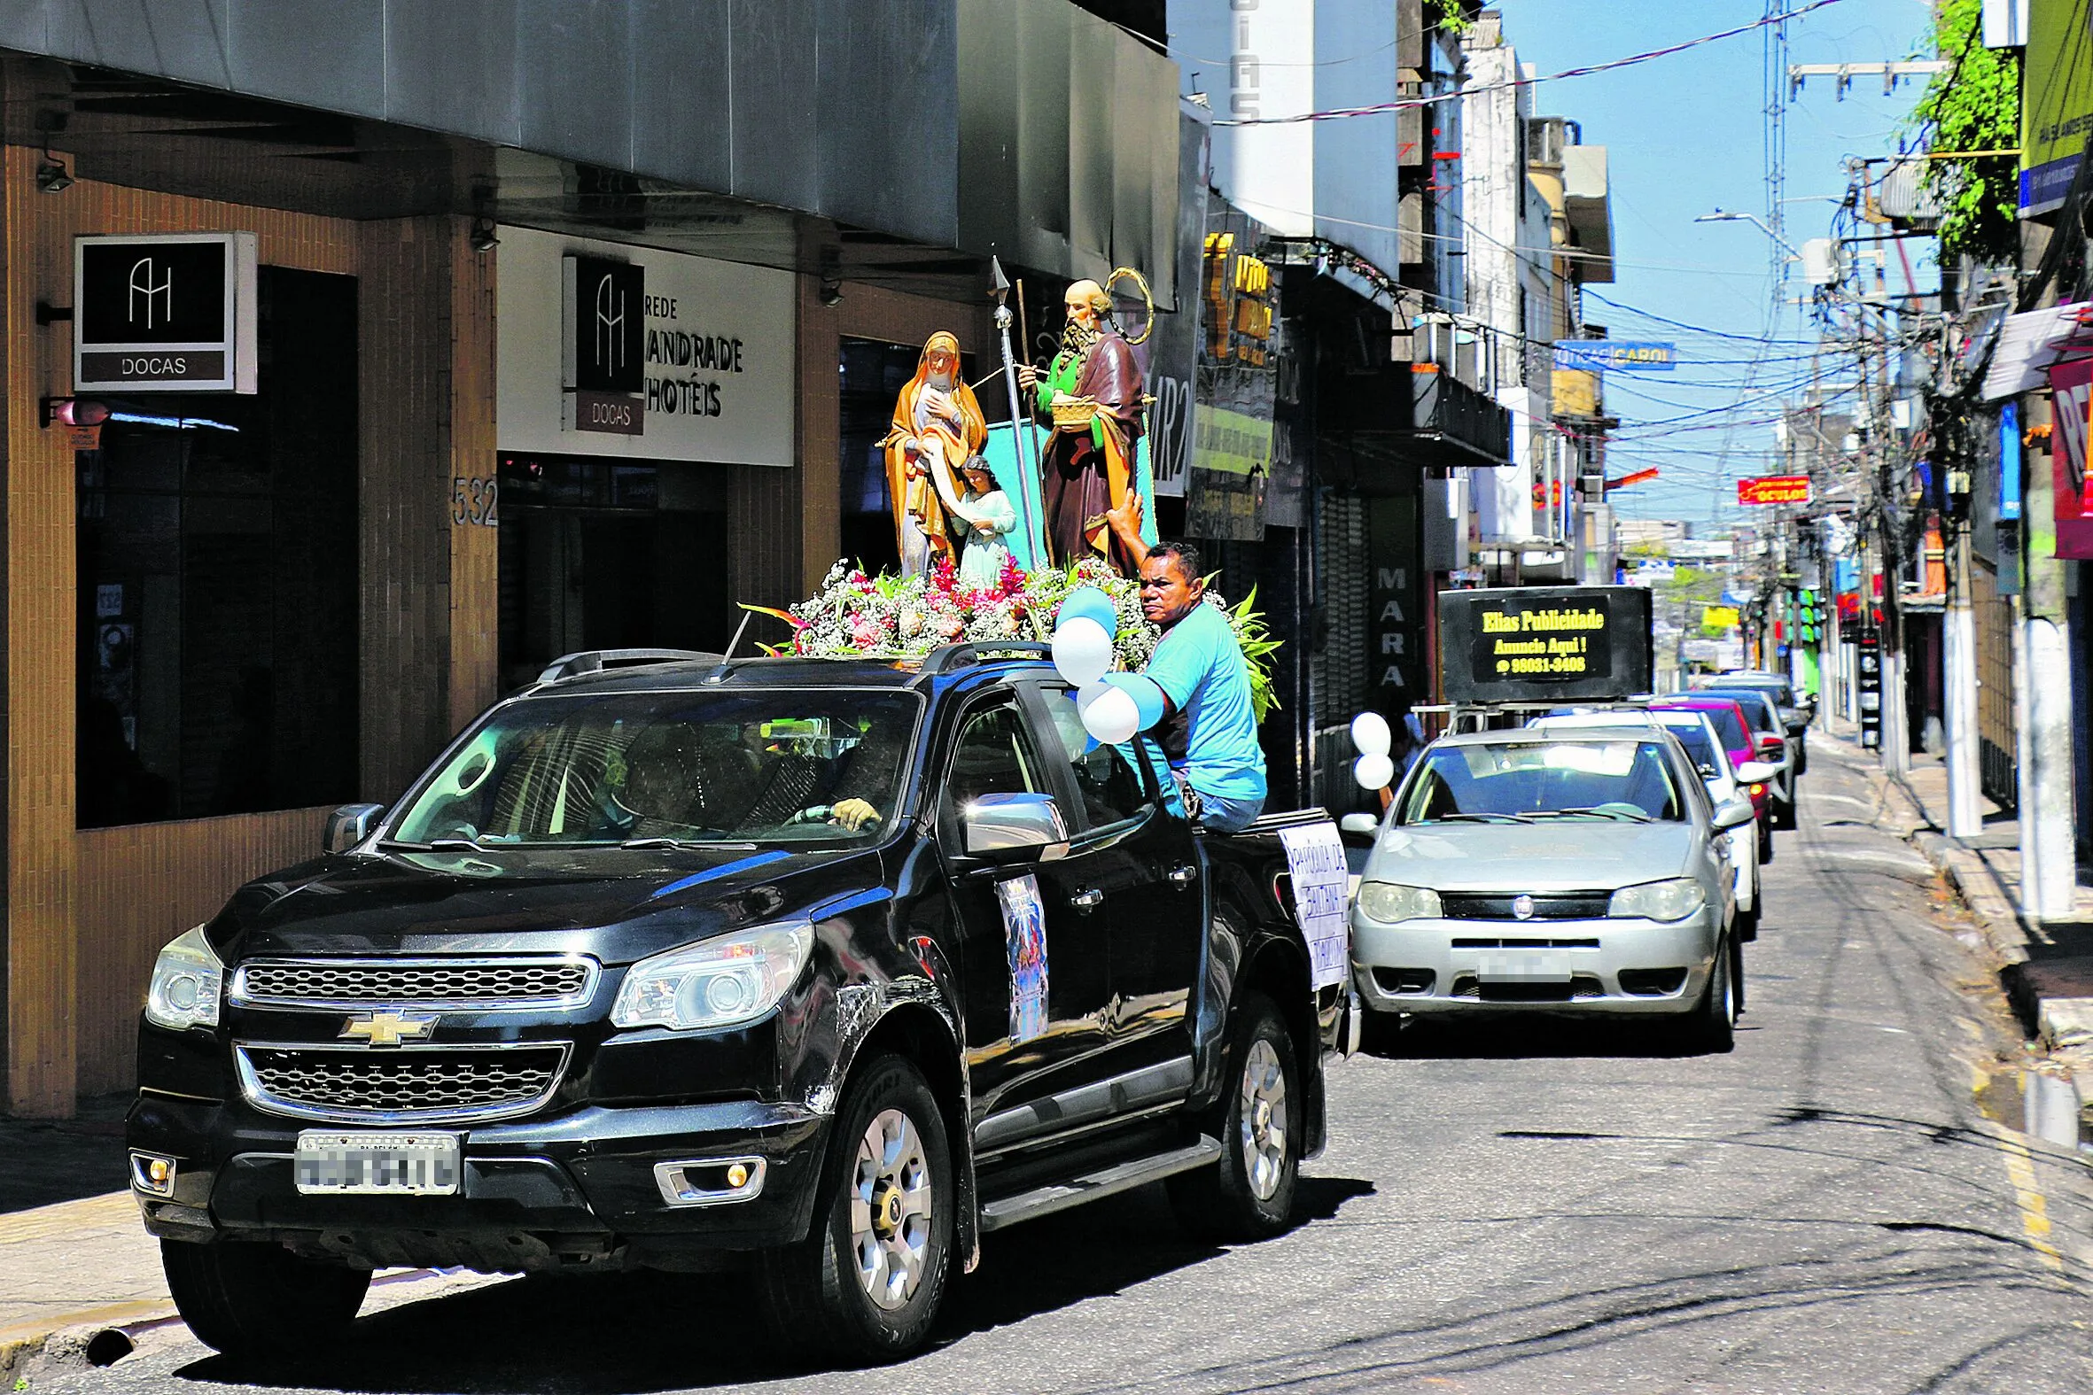
[[[1612,891],[1683,876],[1693,824],[1421,824],[1381,834],[1367,881],[1436,891]]]

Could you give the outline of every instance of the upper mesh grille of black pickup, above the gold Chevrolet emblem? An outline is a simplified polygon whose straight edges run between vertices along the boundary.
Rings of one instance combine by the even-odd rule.
[[[597,966],[580,958],[255,960],[232,1000],[243,1006],[557,1008],[588,1002]]]

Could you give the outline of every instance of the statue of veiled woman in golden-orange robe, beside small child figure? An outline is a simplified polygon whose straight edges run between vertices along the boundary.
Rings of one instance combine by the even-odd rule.
[[[959,339],[938,330],[923,345],[915,376],[902,383],[894,399],[894,429],[881,441],[904,577],[957,554],[948,514],[967,521],[957,475],[986,441],[982,404],[959,376]]]

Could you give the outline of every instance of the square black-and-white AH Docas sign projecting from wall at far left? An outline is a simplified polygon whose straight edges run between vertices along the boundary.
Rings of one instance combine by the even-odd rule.
[[[255,236],[73,238],[73,391],[255,391]]]

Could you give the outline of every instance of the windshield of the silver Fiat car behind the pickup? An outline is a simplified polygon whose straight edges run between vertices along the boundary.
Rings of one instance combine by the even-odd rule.
[[[1534,738],[1432,749],[1398,824],[1679,822],[1685,801],[1656,740]]]

